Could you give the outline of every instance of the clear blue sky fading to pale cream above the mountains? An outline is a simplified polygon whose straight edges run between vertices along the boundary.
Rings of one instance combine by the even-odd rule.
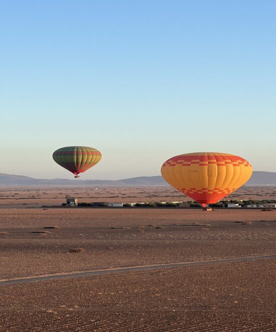
[[[0,173],[71,178],[59,147],[99,149],[83,179],[159,175],[229,152],[276,172],[276,2],[0,1]]]

